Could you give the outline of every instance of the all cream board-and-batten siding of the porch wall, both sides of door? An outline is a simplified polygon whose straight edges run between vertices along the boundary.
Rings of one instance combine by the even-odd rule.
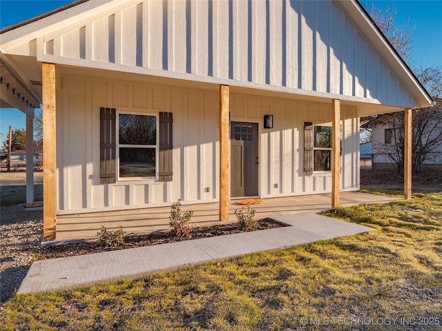
[[[218,201],[218,92],[64,74],[57,94],[58,214]],[[173,113],[173,180],[100,183],[100,108]],[[358,120],[343,107],[342,190],[358,189]],[[262,128],[273,114],[273,129]],[[331,105],[233,93],[231,120],[259,123],[260,196],[330,192],[331,173],[303,174],[304,121],[332,120]],[[275,187],[278,184],[278,188]],[[206,192],[209,188],[209,192]]]

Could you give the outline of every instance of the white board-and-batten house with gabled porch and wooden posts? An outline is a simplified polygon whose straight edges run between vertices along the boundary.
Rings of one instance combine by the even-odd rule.
[[[338,205],[359,117],[432,102],[358,1],[76,1],[0,33],[2,102],[44,106],[45,239],[177,199]]]

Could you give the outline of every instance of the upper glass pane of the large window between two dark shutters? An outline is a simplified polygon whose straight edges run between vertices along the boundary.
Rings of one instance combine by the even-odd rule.
[[[151,115],[119,114],[119,143],[156,145],[157,119]]]

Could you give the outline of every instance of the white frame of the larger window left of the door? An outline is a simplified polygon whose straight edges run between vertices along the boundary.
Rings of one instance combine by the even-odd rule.
[[[155,140],[156,145],[128,145],[128,144],[120,144],[119,143],[119,114],[130,114],[130,115],[144,115],[144,116],[155,116]],[[117,111],[116,114],[115,126],[116,128],[116,143],[117,148],[115,152],[115,156],[117,158],[117,181],[157,181],[158,180],[158,169],[160,167],[160,114],[155,112],[142,112],[137,110],[120,110]],[[119,148],[155,148],[155,176],[152,177],[119,177]]]

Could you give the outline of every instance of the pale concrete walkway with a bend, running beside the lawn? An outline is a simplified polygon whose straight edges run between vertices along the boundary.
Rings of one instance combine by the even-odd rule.
[[[309,212],[272,218],[289,226],[35,261],[18,293],[45,292],[102,281],[136,278],[151,272],[374,230]]]

